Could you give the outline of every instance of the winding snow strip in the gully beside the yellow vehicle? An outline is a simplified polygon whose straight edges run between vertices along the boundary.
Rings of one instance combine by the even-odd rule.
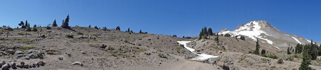
[[[195,51],[195,49],[193,48],[189,48],[187,47],[186,43],[189,43],[191,41],[177,41],[179,44],[183,44],[184,47],[186,49],[188,49],[189,51],[191,51],[192,53],[194,53],[193,51]],[[197,54],[197,53],[194,53],[194,54]],[[200,60],[200,61],[203,61],[203,60],[206,60],[206,59],[209,59],[209,58],[217,58],[219,56],[213,56],[213,55],[208,55],[208,54],[197,54],[199,56],[197,56],[196,58],[193,58],[193,59],[190,59],[190,60]]]

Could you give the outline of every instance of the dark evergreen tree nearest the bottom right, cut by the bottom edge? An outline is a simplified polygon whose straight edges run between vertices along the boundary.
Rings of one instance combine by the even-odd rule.
[[[301,65],[299,67],[299,70],[312,70],[311,67],[309,67],[309,65],[311,64],[311,55],[308,54],[308,50],[303,50],[302,53],[302,62]]]

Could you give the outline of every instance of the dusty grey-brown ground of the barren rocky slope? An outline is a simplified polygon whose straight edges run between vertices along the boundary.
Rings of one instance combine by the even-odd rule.
[[[39,35],[41,33],[46,38],[4,37],[4,40],[0,40],[0,48],[16,46],[20,48],[15,50],[22,52],[38,50],[41,53],[45,53],[44,56],[26,60],[24,57],[28,56],[28,54],[25,54],[24,57],[17,57],[16,54],[4,54],[0,57],[1,60],[4,60],[6,63],[13,61],[17,65],[20,65],[22,61],[29,65],[39,61],[46,63],[40,67],[17,68],[19,70],[222,70],[222,67],[217,64],[219,62],[233,66],[229,67],[230,70],[283,70],[298,69],[301,61],[299,58],[294,58],[295,62],[283,60],[284,63],[277,64],[276,59],[248,54],[248,51],[255,49],[254,41],[243,41],[240,39],[237,41],[235,38],[223,36],[220,36],[219,43],[216,43],[216,41],[212,40],[214,39],[213,36],[210,36],[211,39],[204,41],[204,39],[183,39],[149,33],[128,33],[117,30],[103,31],[102,29],[88,27],[71,27],[71,29],[63,29],[61,27],[46,29],[42,27],[40,29],[43,32],[27,32],[27,36],[37,36],[38,33]],[[49,35],[47,31],[52,32]],[[7,32],[10,32],[9,36],[25,36],[18,33],[26,33],[23,29],[14,29],[14,31],[2,30],[0,36],[6,36]],[[82,32],[84,35],[77,35],[77,32]],[[65,34],[74,34],[75,36],[74,38],[68,38]],[[79,39],[80,37],[95,37],[95,39]],[[221,56],[221,59],[212,64],[188,60],[191,58],[182,57],[183,52],[188,50],[181,47],[177,41],[192,41],[187,46],[201,49],[206,54]],[[101,44],[106,47],[102,48]],[[282,51],[286,50],[284,47],[279,47],[282,50],[278,50],[266,43],[260,42],[260,45],[260,50],[266,49],[266,51],[269,51],[267,54],[274,54],[283,59],[294,55],[287,55],[286,51]],[[33,46],[35,48],[27,50],[21,48],[26,46]],[[56,54],[47,54],[48,52],[46,51],[48,49],[55,50],[56,52],[54,53]],[[66,53],[70,53],[71,56]],[[166,58],[163,58],[164,56]],[[188,52],[187,56],[196,57],[197,55]],[[62,57],[63,60],[59,60],[59,57]],[[83,66],[73,65],[72,63],[75,62],[81,62]],[[311,67],[321,69],[319,66],[311,65]],[[13,69],[9,68],[9,70]]]

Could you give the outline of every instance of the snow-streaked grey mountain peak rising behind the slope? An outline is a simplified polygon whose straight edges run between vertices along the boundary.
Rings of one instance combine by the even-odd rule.
[[[238,35],[245,36],[247,40],[254,40],[258,38],[263,43],[268,43],[273,46],[295,46],[296,44],[308,44],[310,40],[304,39],[303,37],[284,33],[275,27],[273,27],[267,21],[251,21],[247,24],[239,25],[235,30],[228,31],[223,28],[218,34],[231,34],[232,36]],[[320,43],[317,43],[320,44]]]

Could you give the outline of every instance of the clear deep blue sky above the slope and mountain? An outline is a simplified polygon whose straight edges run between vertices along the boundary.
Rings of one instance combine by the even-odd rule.
[[[0,25],[58,26],[69,14],[70,26],[106,26],[121,31],[197,36],[202,27],[218,32],[265,20],[289,34],[321,42],[321,2],[295,0],[1,0]],[[21,26],[19,26],[21,27]]]

